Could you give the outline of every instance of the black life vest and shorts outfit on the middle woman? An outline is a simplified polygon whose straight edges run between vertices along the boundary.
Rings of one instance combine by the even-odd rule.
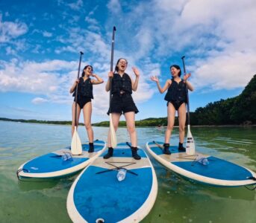
[[[137,114],[139,112],[131,97],[131,78],[128,74],[123,74],[122,77],[119,74],[113,74],[111,94],[111,111],[108,109],[107,114],[125,114],[130,111],[134,111]]]

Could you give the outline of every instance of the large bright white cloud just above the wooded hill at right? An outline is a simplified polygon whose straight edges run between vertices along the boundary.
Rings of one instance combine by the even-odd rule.
[[[190,67],[195,77],[196,88],[207,90],[243,88],[256,74],[255,52],[219,54],[208,59],[199,59]]]

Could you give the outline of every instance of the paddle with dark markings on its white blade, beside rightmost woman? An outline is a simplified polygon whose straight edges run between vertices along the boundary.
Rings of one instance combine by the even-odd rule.
[[[181,57],[183,68],[184,68],[184,74],[186,74],[186,68],[185,68],[185,56]],[[187,87],[186,87],[187,90]],[[186,153],[187,155],[194,155],[196,152],[195,149],[195,142],[193,139],[193,135],[190,132],[190,100],[187,90],[187,143],[186,143]]]

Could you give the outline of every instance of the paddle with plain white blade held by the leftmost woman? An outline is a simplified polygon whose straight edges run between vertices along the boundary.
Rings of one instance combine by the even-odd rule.
[[[80,68],[81,68],[81,59],[82,55],[84,53],[81,51],[80,52],[80,60],[79,60],[79,65],[78,65],[78,78],[80,74]],[[71,141],[71,153],[72,155],[81,155],[83,150],[82,150],[82,145],[81,145],[81,140],[79,138],[78,132],[77,132],[77,110],[78,110],[78,84],[76,85],[75,88],[75,131],[72,136],[72,141]]]

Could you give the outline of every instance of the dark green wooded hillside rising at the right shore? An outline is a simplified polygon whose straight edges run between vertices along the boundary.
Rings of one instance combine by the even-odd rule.
[[[199,126],[256,124],[256,74],[240,95],[196,109],[190,122]]]

